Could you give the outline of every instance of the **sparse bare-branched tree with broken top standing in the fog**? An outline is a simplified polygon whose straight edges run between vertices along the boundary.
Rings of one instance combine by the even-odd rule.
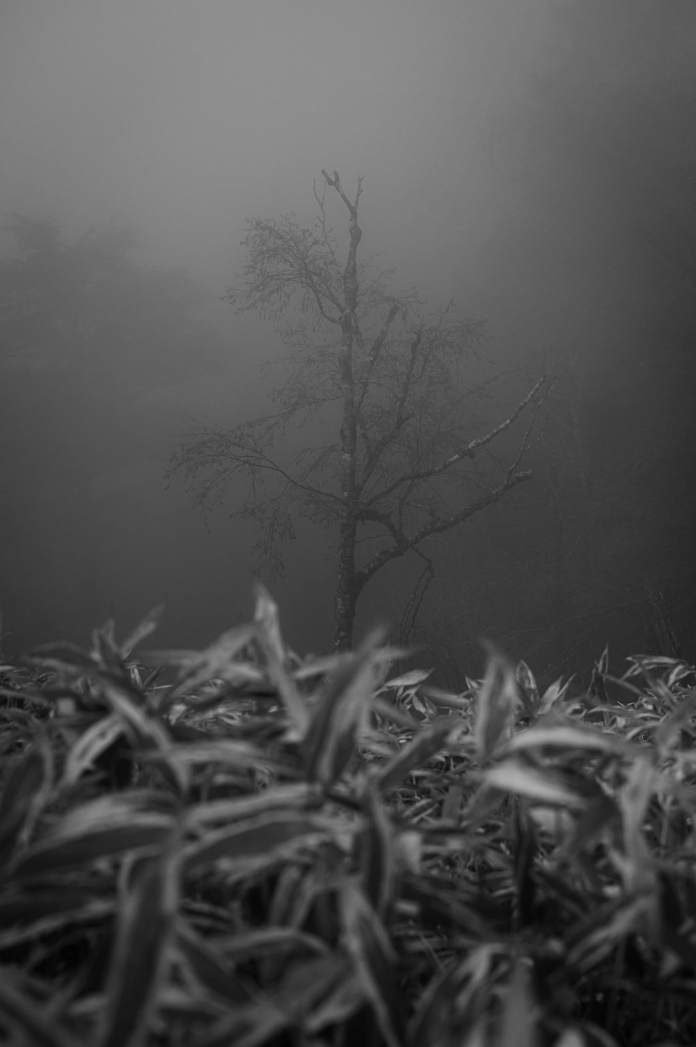
[[[255,552],[271,566],[282,565],[279,542],[294,537],[298,517],[337,530],[334,644],[344,649],[358,597],[382,567],[417,554],[427,585],[427,539],[531,478],[519,466],[543,431],[552,380],[527,379],[507,417],[476,436],[476,405],[492,395],[490,380],[471,384],[480,324],[453,318],[451,307],[428,320],[413,293],[389,294],[391,271],[358,257],[362,179],[352,200],[337,172],[322,175],[312,228],[292,215],[248,222],[243,274],[227,292],[238,312],[286,324],[291,367],[274,394],[277,409],[233,428],[201,425],[173,455],[169,475],[188,483],[203,511],[245,480],[246,500],[232,515],[254,520]],[[328,225],[327,186],[349,215],[344,262]],[[491,445],[502,447],[523,411],[526,424],[502,464]],[[335,423],[335,442],[284,454],[287,427],[321,416]],[[411,615],[423,591],[414,591]]]

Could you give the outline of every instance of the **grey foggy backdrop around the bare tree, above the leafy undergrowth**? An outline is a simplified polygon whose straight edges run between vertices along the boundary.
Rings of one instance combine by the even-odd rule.
[[[5,654],[160,602],[158,646],[249,616],[249,527],[164,473],[196,419],[269,409],[282,340],[221,298],[245,220],[311,224],[327,168],[364,176],[364,252],[485,318],[500,370],[572,362],[535,480],[429,549],[421,662],[673,653],[647,585],[696,656],[692,0],[3,0],[0,143]],[[269,583],[300,653],[331,644],[330,539]]]

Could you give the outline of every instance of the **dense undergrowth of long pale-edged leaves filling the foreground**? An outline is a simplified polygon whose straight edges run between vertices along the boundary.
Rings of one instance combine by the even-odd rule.
[[[696,1042],[690,665],[453,695],[380,636],[300,661],[263,591],[155,625],[0,667],[3,1042]]]

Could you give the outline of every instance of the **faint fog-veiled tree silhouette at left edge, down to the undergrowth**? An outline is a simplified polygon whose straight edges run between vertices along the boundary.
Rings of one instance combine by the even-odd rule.
[[[3,224],[0,489],[12,494],[0,512],[0,600],[18,643],[53,628],[77,639],[127,573],[142,576],[148,463],[156,477],[185,382],[225,366],[229,347],[193,280],[143,264],[133,226],[70,237],[50,219]],[[162,386],[173,396],[157,395]],[[117,563],[129,519],[137,538]]]

